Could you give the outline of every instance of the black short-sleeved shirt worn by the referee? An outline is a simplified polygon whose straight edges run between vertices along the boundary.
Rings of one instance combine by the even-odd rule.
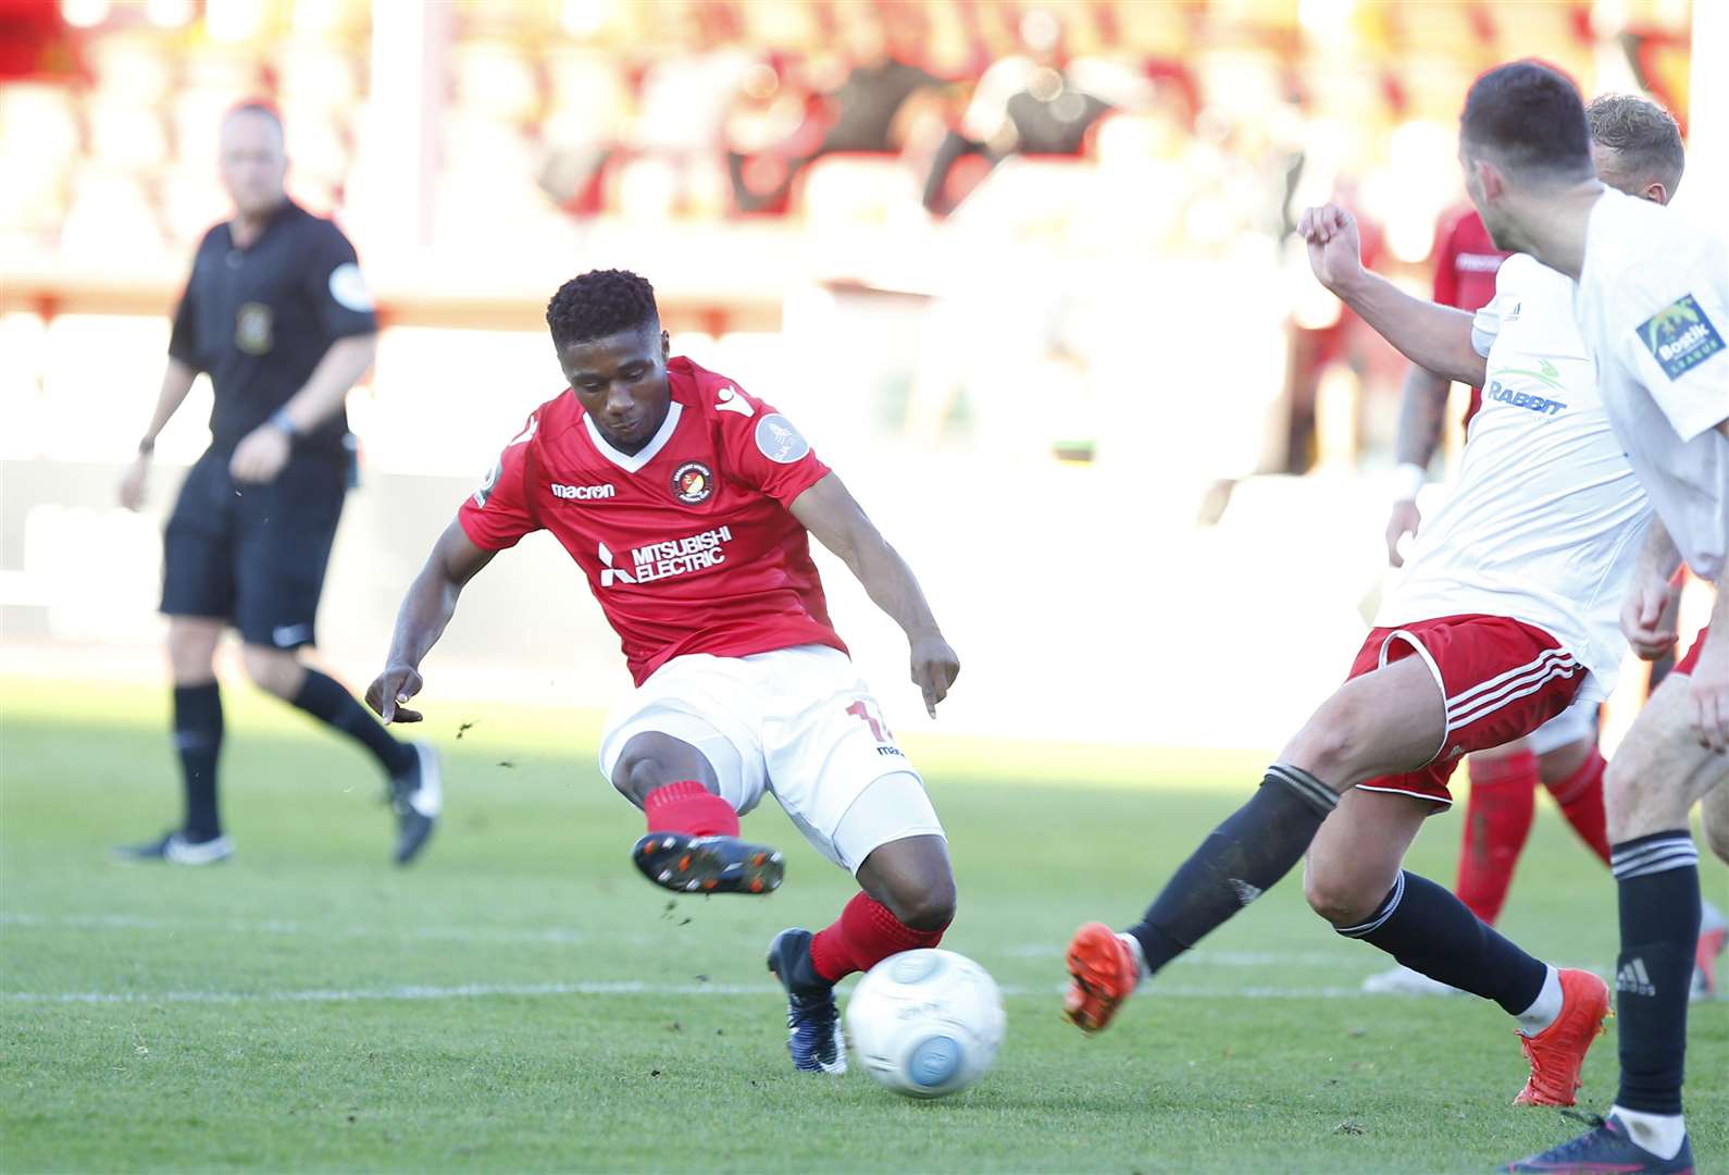
[[[216,388],[211,445],[232,450],[294,398],[337,339],[379,322],[342,230],[287,201],[247,249],[228,225],[204,234],[168,353]],[[348,412],[296,438],[297,452],[342,452]]]

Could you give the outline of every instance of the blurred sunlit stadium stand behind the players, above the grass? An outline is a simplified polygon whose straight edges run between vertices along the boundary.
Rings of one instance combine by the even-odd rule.
[[[375,671],[439,526],[560,389],[545,298],[617,265],[655,282],[674,348],[801,422],[909,557],[965,663],[941,730],[1276,744],[1378,590],[1402,376],[1309,277],[1295,216],[1338,192],[1376,265],[1426,287],[1461,199],[1464,87],[1520,55],[1663,100],[1689,130],[1681,206],[1720,208],[1729,99],[1689,71],[1696,40],[1729,47],[1713,9],[7,0],[9,671],[159,680],[161,512],[207,386],[161,438],[150,510],[119,510],[114,483],[190,249],[225,215],[216,123],[265,97],[290,192],[341,220],[386,324],[351,396],[363,488],[320,616],[348,682]],[[942,85],[882,152],[818,157],[743,209],[728,152],[773,192],[833,116],[821,95],[882,42]],[[1113,109],[1074,156],[963,159],[946,215],[927,211],[946,128],[986,137],[991,92],[1041,52]],[[890,722],[922,727],[899,633],[825,568]],[[546,536],[470,588],[429,680],[434,708],[595,709],[628,684]]]

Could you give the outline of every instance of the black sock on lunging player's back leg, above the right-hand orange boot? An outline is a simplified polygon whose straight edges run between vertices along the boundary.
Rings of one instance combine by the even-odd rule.
[[[1445,886],[1400,872],[1375,915],[1338,926],[1430,979],[1494,1000],[1511,1016],[1537,1002],[1549,967],[1497,934]]]

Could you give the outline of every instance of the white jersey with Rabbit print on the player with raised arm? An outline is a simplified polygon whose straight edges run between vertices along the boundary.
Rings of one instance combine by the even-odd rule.
[[[1620,606],[1651,516],[1598,398],[1573,284],[1508,258],[1471,341],[1483,407],[1447,502],[1425,519],[1376,626],[1483,613],[1537,625],[1606,696],[1627,644]]]

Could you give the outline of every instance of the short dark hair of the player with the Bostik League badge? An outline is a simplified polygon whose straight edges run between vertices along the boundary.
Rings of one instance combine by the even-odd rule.
[[[1565,73],[1539,61],[1496,66],[1473,81],[1459,133],[1509,171],[1580,180],[1596,175],[1579,90]]]

